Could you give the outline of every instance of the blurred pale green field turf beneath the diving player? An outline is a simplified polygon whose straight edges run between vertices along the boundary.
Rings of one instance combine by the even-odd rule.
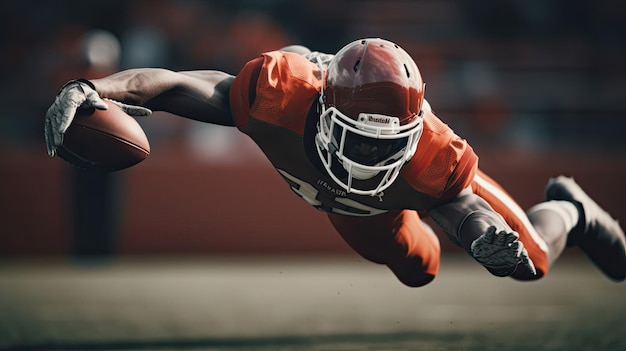
[[[626,350],[626,284],[566,255],[532,283],[444,256],[407,288],[359,258],[0,264],[2,350]]]

